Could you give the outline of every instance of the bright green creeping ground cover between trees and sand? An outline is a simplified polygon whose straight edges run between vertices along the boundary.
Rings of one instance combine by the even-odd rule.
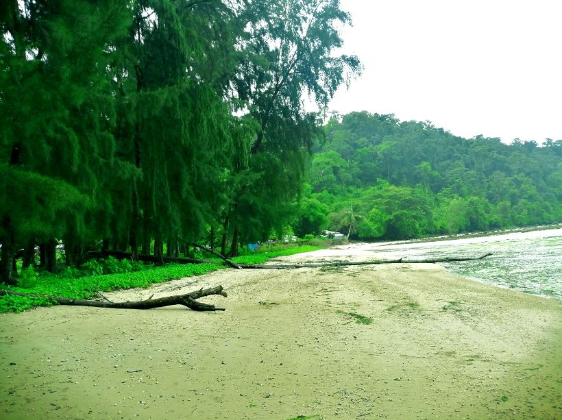
[[[243,264],[261,264],[278,256],[289,256],[317,249],[320,248],[302,245],[236,257],[233,260]],[[6,288],[21,293],[71,297],[73,299],[93,299],[97,296],[98,292],[116,291],[125,288],[146,288],[151,284],[206,274],[225,268],[227,267],[219,264],[165,264],[161,267],[151,267],[143,271],[86,275],[75,278],[51,274],[34,275],[34,278],[25,279],[23,285],[28,287]],[[54,304],[56,302],[46,297],[5,295],[0,297],[0,312],[21,312],[36,306],[51,306]]]

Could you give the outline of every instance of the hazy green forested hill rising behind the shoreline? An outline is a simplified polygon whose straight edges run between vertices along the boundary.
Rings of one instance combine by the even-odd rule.
[[[506,145],[367,112],[325,129],[297,234],[415,238],[562,221],[562,140]]]

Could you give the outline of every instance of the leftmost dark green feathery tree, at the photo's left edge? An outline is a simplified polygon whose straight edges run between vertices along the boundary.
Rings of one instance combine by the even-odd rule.
[[[114,157],[106,68],[127,28],[127,4],[8,1],[1,7],[0,156],[5,188],[19,197],[3,196],[10,206],[0,210],[6,282],[12,282],[14,250],[36,242],[49,244],[53,269],[54,240],[84,234],[84,203],[97,208],[104,201],[99,180]]]

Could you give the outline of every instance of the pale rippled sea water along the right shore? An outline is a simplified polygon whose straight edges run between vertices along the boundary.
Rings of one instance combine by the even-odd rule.
[[[372,247],[371,247],[372,246]],[[379,258],[474,257],[482,260],[445,262],[448,271],[517,291],[562,299],[562,229],[509,232],[428,242],[369,244]]]

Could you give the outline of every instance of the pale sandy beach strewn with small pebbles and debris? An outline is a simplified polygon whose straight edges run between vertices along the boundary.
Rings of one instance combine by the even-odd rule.
[[[369,260],[361,245],[278,262]],[[2,419],[559,419],[562,301],[435,264],[221,270],[225,312],[0,315]],[[372,323],[356,323],[358,316]]]

